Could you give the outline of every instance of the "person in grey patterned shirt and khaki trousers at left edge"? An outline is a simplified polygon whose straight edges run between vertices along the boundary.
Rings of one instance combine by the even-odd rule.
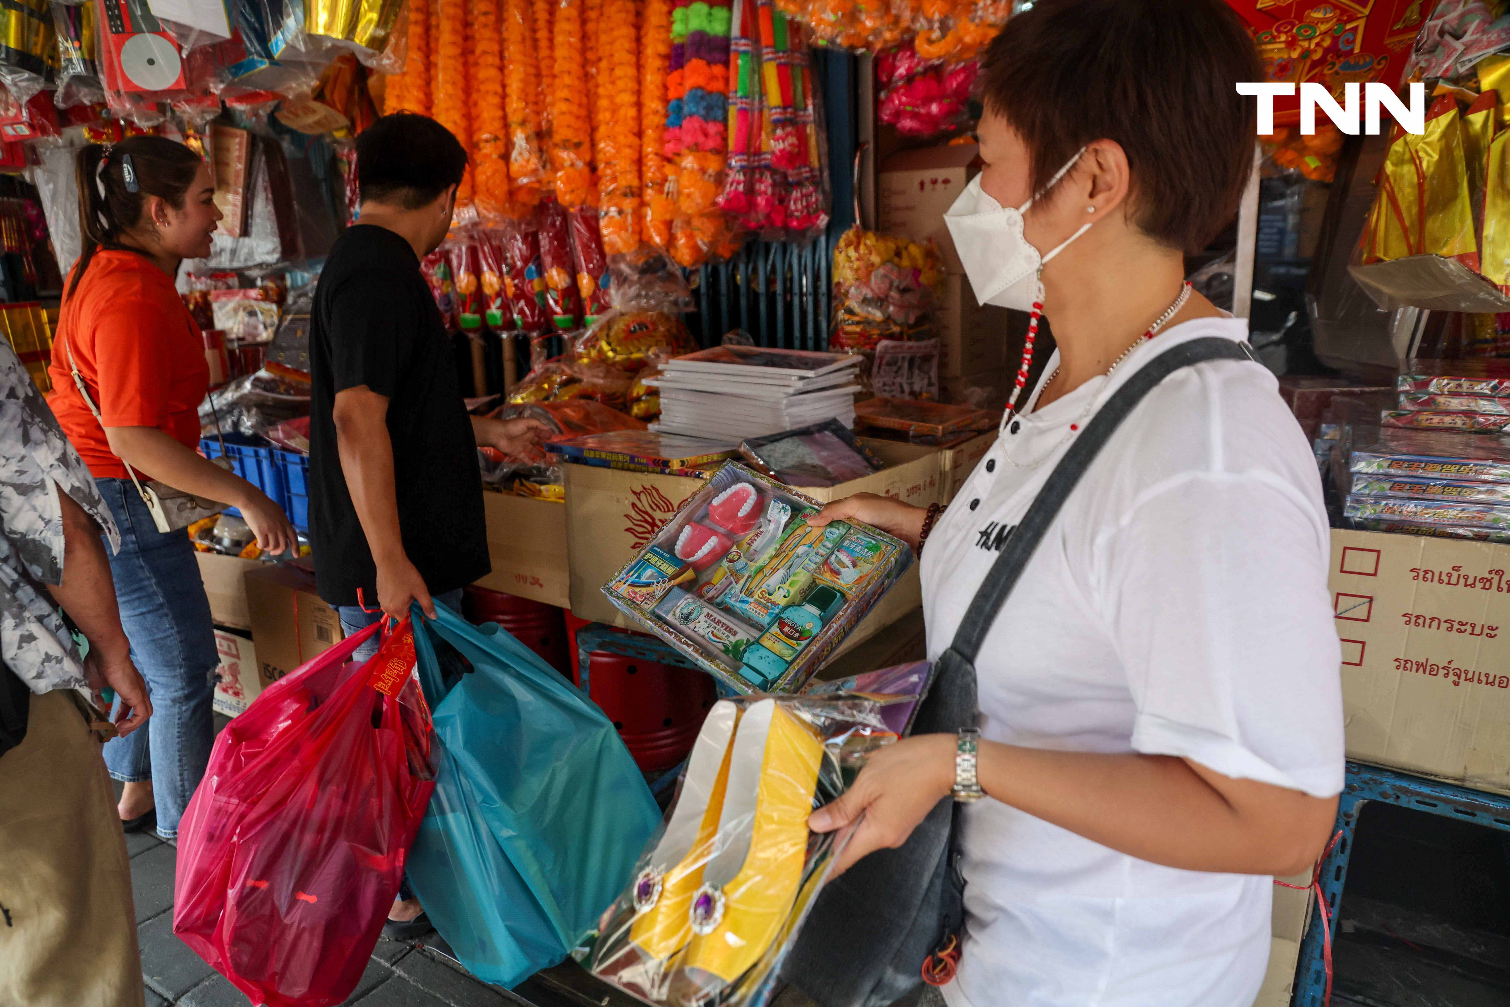
[[[112,728],[95,707],[115,688],[115,728],[130,734],[151,704],[101,531],[113,548],[89,470],[0,340],[0,1004],[145,999],[125,836],[97,734]]]

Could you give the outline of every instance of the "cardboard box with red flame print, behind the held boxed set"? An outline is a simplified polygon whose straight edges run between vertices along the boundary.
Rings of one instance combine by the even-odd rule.
[[[592,465],[566,465],[566,559],[571,568],[571,610],[581,619],[633,628],[607,598],[602,586],[676,513],[676,507],[702,486],[684,476],[627,473]],[[864,479],[802,492],[820,503],[880,494],[918,507],[938,500],[938,456],[929,453],[889,465]],[[900,584],[892,592],[900,590]],[[888,596],[889,599],[889,596]],[[855,628],[859,633],[883,601]],[[903,614],[903,613],[897,613]]]

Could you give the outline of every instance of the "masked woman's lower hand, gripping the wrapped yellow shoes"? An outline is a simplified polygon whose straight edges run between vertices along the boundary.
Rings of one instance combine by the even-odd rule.
[[[838,800],[812,812],[808,824],[814,832],[843,829],[865,814],[830,877],[867,853],[908,841],[933,806],[954,790],[956,747],[951,734],[924,734],[888,744],[871,753]]]

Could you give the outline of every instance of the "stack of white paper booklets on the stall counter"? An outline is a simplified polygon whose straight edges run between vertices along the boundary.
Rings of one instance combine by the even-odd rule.
[[[645,383],[660,388],[652,430],[741,441],[823,420],[855,426],[856,368],[849,353],[714,346],[678,356]]]

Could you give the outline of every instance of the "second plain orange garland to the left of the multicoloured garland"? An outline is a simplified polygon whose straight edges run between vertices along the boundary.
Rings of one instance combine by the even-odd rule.
[[[602,89],[609,115],[599,145],[602,172],[602,245],[610,255],[640,246],[640,88],[634,0],[604,0]]]

